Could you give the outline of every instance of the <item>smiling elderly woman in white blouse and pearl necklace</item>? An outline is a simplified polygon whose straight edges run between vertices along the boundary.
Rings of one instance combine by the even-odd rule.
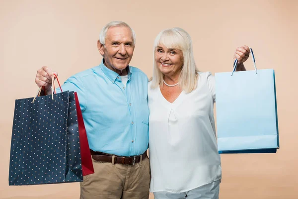
[[[238,70],[249,48],[237,48]],[[218,199],[222,178],[213,106],[215,78],[199,72],[189,34],[161,31],[149,82],[150,192],[155,199]]]

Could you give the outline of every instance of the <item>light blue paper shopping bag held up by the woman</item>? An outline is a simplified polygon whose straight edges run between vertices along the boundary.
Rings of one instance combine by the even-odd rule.
[[[276,153],[279,148],[273,69],[216,73],[219,153]]]

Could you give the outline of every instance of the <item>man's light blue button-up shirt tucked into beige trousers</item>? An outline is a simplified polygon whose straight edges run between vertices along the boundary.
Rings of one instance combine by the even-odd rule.
[[[90,149],[118,156],[148,149],[148,78],[140,69],[129,66],[125,87],[102,61],[70,77],[62,90],[77,93]]]

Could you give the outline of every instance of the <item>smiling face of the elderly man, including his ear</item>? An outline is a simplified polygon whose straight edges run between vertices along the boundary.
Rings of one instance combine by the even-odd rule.
[[[117,73],[122,73],[134,54],[132,31],[125,26],[110,27],[106,33],[105,45],[98,40],[97,47],[104,57],[105,66]]]

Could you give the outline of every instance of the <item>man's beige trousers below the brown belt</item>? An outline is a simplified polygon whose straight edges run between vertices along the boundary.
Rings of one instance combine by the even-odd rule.
[[[148,199],[149,158],[135,165],[99,162],[92,159],[94,174],[80,183],[80,199]]]

